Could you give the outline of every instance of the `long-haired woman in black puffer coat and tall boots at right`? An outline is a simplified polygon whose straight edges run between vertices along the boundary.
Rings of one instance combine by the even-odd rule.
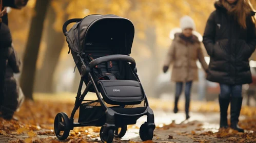
[[[210,56],[207,80],[220,83],[220,127],[227,128],[230,103],[231,128],[238,126],[242,84],[252,82],[249,58],[255,51],[255,12],[249,0],[219,0],[207,21],[203,43]],[[231,98],[231,100],[230,100]]]

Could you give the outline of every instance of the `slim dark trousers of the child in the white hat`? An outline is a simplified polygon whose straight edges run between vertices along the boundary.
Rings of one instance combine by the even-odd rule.
[[[185,83],[185,112],[186,119],[189,118],[189,104],[190,104],[190,92],[191,92],[192,81],[188,81]],[[176,82],[176,90],[175,90],[175,101],[174,101],[174,113],[178,112],[178,102],[182,93],[183,82]]]

